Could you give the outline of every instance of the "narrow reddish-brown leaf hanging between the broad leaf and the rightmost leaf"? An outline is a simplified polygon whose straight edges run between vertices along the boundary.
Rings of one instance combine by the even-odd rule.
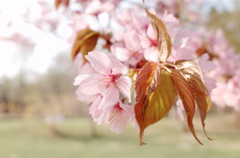
[[[187,122],[190,131],[192,132],[194,138],[203,145],[200,140],[197,138],[197,135],[194,130],[194,126],[192,123],[194,113],[195,113],[195,99],[194,94],[192,92],[192,87],[189,85],[187,79],[183,76],[180,70],[172,69],[172,78],[177,90],[177,93],[182,100],[184,109],[187,114]]]

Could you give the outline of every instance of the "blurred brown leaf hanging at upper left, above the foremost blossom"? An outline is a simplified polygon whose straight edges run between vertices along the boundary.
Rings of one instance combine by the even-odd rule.
[[[91,29],[87,28],[79,31],[72,47],[72,59],[74,60],[77,54],[81,52],[84,60],[86,60],[85,55],[95,48],[98,38],[99,32]]]

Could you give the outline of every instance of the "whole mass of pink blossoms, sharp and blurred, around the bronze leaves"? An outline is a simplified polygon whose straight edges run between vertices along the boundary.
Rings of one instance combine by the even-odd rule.
[[[79,70],[74,85],[78,86],[77,98],[90,105],[89,114],[93,120],[108,124],[113,132],[121,133],[128,122],[138,128],[134,113],[136,74],[147,62],[158,62],[156,30],[144,9],[161,19],[170,36],[171,54],[166,62],[196,61],[212,101],[218,106],[240,110],[240,55],[229,46],[221,30],[215,34],[204,28],[191,32],[182,25],[184,21],[204,22],[201,14],[193,9],[193,5],[201,5],[201,1],[152,0],[148,3],[145,0],[145,3],[55,0],[56,11],[53,4],[39,0],[40,17],[34,19],[27,14],[28,10],[21,14],[20,22],[65,38],[71,44],[76,41],[78,32],[89,37],[94,34],[94,38],[85,39],[85,45],[78,41],[83,50],[88,50],[94,42],[97,45],[87,54],[79,53],[81,49],[75,52],[74,62],[79,65]],[[15,23],[9,22],[9,29],[14,27]],[[84,32],[85,29],[92,30],[93,34],[89,30]],[[71,30],[71,34],[63,37],[62,30]],[[34,45],[29,40],[31,34],[24,37],[21,32],[18,29],[4,39]],[[183,119],[182,102],[178,100],[176,105]]]

